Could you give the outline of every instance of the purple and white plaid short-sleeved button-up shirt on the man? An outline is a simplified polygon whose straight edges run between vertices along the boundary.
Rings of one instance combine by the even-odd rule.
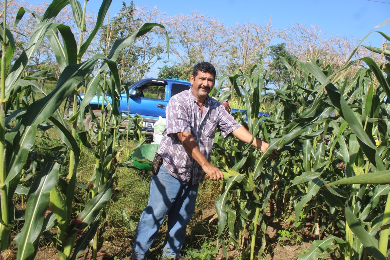
[[[163,157],[163,164],[170,175],[179,180],[197,184],[204,180],[202,167],[187,153],[177,133],[191,132],[200,152],[210,160],[214,136],[218,127],[226,137],[241,125],[217,100],[207,96],[203,114],[192,88],[173,96],[167,105],[167,124],[157,153]]]

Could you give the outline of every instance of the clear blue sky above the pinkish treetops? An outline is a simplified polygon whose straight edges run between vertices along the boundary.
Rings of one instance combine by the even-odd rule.
[[[97,13],[97,2],[101,1],[90,0],[87,9],[96,10]],[[129,4],[130,0],[125,2]],[[286,29],[299,22],[318,26],[328,36],[345,35],[355,39],[362,39],[374,27],[390,19],[390,0],[134,0],[134,3],[138,6],[144,4],[149,9],[156,6],[169,16],[180,13],[189,15],[198,10],[225,25],[246,20],[265,25],[271,17],[271,24],[277,29]],[[113,0],[110,16],[121,7],[121,0]],[[376,30],[389,35],[390,23]],[[367,39],[373,46],[379,47],[382,43],[382,37],[377,33]]]

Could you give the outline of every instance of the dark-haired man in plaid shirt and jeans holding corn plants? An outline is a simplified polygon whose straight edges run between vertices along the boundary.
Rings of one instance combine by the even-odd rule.
[[[208,96],[214,87],[215,75],[213,65],[198,63],[190,76],[192,87],[176,94],[168,103],[167,124],[156,153],[162,157],[162,165],[152,176],[149,202],[135,234],[133,259],[145,259],[166,215],[168,230],[163,257],[187,259],[181,256],[180,250],[186,226],[195,210],[199,183],[205,173],[210,180],[223,180],[222,171],[209,163],[216,128],[223,137],[232,133],[246,143],[252,140],[252,134],[237,123],[220,102]],[[252,145],[262,152],[268,148],[268,144],[257,137]]]

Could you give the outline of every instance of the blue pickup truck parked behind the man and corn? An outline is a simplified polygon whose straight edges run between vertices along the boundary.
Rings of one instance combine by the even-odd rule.
[[[119,100],[119,112],[123,113],[123,117],[134,117],[139,114],[143,118],[142,129],[147,132],[154,131],[154,123],[161,116],[165,118],[165,109],[170,98],[177,93],[180,93],[190,88],[190,82],[177,79],[158,79],[145,78],[129,87],[129,100],[127,101],[126,92],[122,91]],[[80,98],[83,98],[80,94]],[[96,118],[101,116],[101,102],[102,96],[95,96],[89,103]],[[107,97],[109,102],[112,102],[111,97]],[[78,100],[80,102],[80,100]],[[106,105],[106,102],[105,102]],[[72,114],[72,101],[67,100],[64,109],[64,118],[69,119]],[[232,113],[237,112],[238,109],[232,109]],[[241,110],[241,112],[245,112]],[[260,116],[268,116],[267,113],[260,113]],[[85,129],[96,128],[92,121],[90,114],[85,114],[84,119]],[[125,119],[121,123],[121,127],[128,126],[128,120]],[[96,130],[96,129],[95,129]]]

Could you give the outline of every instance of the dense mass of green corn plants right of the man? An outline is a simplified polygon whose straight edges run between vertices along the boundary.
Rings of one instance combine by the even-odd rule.
[[[388,49],[372,50],[388,55]],[[256,73],[229,77],[234,94],[246,109],[238,120],[270,146],[259,155],[231,139],[216,139],[214,163],[236,171],[227,178],[225,192],[216,201],[219,238],[226,230],[229,243],[245,248],[237,236],[249,229],[253,242],[255,237],[262,240],[260,257],[267,247],[264,213],[273,196],[278,208],[284,209],[282,213],[295,215],[295,224],[296,216],[312,219],[311,232],[317,240],[300,259],[316,259],[332,252],[346,259],[365,259],[368,255],[385,259],[389,222],[386,210],[390,206],[386,199],[388,178],[384,177],[388,174],[390,128],[386,99],[389,85],[383,74],[389,71],[386,64],[378,67],[370,58],[362,61],[367,68],[361,68],[351,79],[340,75],[353,62],[340,71],[324,67],[318,60],[295,61],[293,66],[284,62],[293,80],[275,90],[273,113],[261,118],[264,121],[256,118],[256,108],[262,102],[261,88],[255,91],[253,87],[264,85],[264,71],[257,70],[263,73],[261,80]],[[253,84],[254,79],[257,84]],[[246,116],[247,123],[242,120]],[[266,158],[273,149],[280,149],[280,155],[270,162]],[[374,181],[371,176],[365,182],[353,181],[374,173],[378,176]],[[343,178],[347,181],[334,182]],[[325,186],[327,183],[342,187]],[[386,204],[381,202],[383,199]],[[339,233],[341,237],[328,235],[321,240],[324,233]],[[254,249],[252,243],[250,259],[254,259]]]

